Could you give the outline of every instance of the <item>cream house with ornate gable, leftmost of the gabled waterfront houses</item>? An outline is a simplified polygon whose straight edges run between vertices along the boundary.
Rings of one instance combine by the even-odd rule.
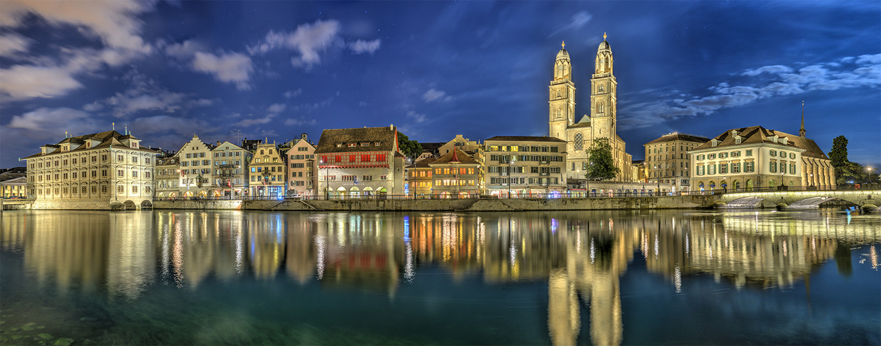
[[[211,182],[214,172],[211,169],[211,151],[215,148],[193,135],[193,138],[181,146],[175,156],[180,161],[181,177],[178,181],[180,196],[207,197],[213,195]]]

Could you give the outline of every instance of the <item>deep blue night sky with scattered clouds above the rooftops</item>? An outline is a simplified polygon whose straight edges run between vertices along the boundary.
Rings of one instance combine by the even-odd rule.
[[[397,125],[422,142],[547,135],[560,42],[589,113],[608,33],[634,159],[671,131],[761,125],[881,163],[881,2],[18,2],[0,6],[0,166],[126,126],[143,144]]]

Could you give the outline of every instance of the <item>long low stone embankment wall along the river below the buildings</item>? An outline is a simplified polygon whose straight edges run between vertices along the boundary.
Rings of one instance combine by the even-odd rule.
[[[340,211],[519,211],[519,210],[643,210],[710,208],[715,195],[611,198],[518,198],[462,200],[343,201],[157,201],[154,209],[202,210],[340,210]]]

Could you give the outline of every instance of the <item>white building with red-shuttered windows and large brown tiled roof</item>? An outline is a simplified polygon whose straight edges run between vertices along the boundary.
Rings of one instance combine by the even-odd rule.
[[[403,155],[394,125],[325,129],[315,148],[319,193],[329,198],[403,195]]]

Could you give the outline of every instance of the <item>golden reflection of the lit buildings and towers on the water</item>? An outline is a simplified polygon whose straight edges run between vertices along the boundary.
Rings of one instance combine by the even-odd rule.
[[[271,213],[11,212],[4,251],[24,253],[41,285],[137,299],[153,283],[287,277],[395,297],[440,266],[453,281],[547,282],[547,330],[574,344],[619,344],[620,277],[634,256],[684,292],[688,276],[735,288],[791,287],[830,259],[848,275],[850,247],[881,241],[878,217],[825,212]],[[877,253],[858,254],[877,269]],[[845,261],[847,260],[847,261]],[[581,316],[589,306],[589,316]],[[582,341],[584,342],[584,341]]]

